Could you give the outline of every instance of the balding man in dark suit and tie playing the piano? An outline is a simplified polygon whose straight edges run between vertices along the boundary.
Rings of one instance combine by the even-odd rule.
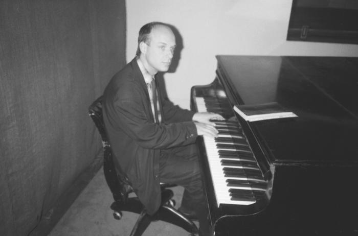
[[[217,136],[214,113],[194,113],[162,98],[155,74],[169,69],[175,36],[165,23],[140,29],[137,56],[104,91],[103,119],[117,168],[126,173],[154,214],[161,203],[160,182],[185,187],[180,210],[194,210],[200,232],[208,234],[207,210],[194,142],[197,135]]]

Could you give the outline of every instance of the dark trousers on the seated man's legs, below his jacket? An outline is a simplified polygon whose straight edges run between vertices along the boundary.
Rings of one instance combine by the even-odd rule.
[[[195,144],[161,151],[160,181],[185,188],[182,207],[195,211],[200,233],[208,235],[208,210]]]

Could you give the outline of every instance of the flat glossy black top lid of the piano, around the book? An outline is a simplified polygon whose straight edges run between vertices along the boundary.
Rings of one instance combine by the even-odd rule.
[[[217,56],[232,104],[278,102],[293,119],[250,123],[271,162],[358,164],[358,59]]]

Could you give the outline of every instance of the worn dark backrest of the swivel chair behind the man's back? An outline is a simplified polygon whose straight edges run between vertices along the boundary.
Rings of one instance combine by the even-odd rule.
[[[94,101],[88,108],[88,114],[95,123],[101,138],[103,147],[103,172],[110,191],[115,201],[125,203],[128,194],[133,192],[130,182],[124,173],[118,173],[113,161],[112,150],[106,134],[102,113],[103,96]]]

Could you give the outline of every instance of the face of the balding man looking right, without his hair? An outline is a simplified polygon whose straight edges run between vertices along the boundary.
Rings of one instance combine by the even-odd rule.
[[[152,72],[166,72],[171,64],[175,49],[175,36],[164,26],[156,26],[150,33],[144,56]]]

